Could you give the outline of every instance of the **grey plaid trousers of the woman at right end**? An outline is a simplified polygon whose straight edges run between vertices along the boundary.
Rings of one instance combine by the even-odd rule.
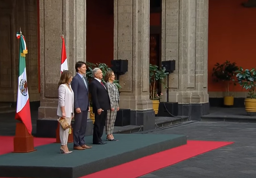
[[[116,121],[118,101],[112,101],[112,102],[113,102],[115,110],[114,111],[112,111],[111,109],[108,110],[108,117],[106,119],[106,134],[107,135],[113,134],[114,123]]]

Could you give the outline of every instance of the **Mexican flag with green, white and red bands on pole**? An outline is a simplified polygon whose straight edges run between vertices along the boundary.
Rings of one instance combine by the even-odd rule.
[[[17,38],[20,39],[19,51],[19,77],[18,77],[18,94],[17,94],[17,109],[15,119],[20,120],[26,126],[28,133],[32,132],[32,123],[30,115],[30,105],[28,96],[28,84],[26,73],[26,54],[28,53],[27,45],[24,36],[17,32]]]

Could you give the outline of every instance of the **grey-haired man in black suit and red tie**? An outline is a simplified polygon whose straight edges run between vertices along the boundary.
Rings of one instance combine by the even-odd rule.
[[[90,92],[93,101],[93,112],[95,114],[95,122],[93,127],[93,144],[106,144],[101,140],[104,124],[107,118],[107,112],[110,109],[110,99],[106,86],[102,83],[103,77],[100,68],[93,69],[93,80],[90,84]]]

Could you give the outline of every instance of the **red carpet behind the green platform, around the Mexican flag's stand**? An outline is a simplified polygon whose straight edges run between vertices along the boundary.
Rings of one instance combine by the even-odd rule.
[[[5,143],[4,146],[0,147],[0,155],[10,153],[13,151],[13,138],[14,136],[0,136],[2,143]],[[56,141],[56,138],[36,138],[34,137],[34,147],[51,144]]]

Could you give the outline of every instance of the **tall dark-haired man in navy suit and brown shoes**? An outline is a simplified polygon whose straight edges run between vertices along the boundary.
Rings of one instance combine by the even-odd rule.
[[[83,76],[86,73],[86,63],[78,61],[75,64],[77,74],[71,82],[74,91],[75,122],[73,126],[74,149],[84,150],[91,148],[85,145],[84,137],[87,126],[88,111],[90,111],[88,99],[88,82]]]

